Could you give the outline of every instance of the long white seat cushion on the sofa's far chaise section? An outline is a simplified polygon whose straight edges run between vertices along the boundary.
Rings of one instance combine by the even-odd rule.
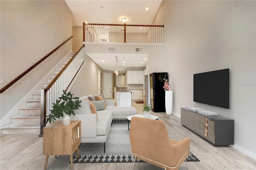
[[[135,107],[126,106],[107,106],[105,110],[111,110],[112,115],[136,115]]]

